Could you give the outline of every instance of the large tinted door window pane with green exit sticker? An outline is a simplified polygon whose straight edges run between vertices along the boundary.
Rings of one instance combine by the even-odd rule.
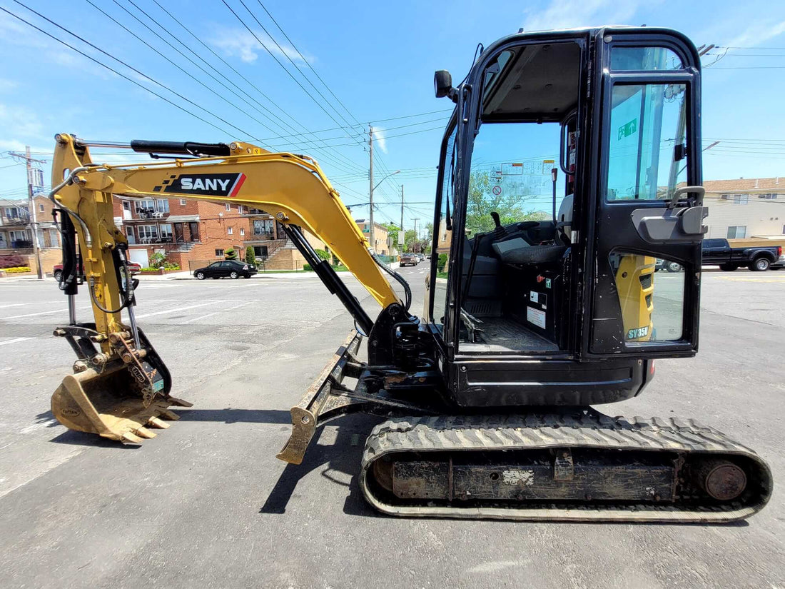
[[[684,84],[616,84],[608,129],[608,200],[670,199],[686,180]]]

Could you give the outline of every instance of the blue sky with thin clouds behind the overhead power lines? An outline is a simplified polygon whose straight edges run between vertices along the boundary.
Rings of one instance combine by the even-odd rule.
[[[712,180],[785,176],[785,140],[780,139],[785,131],[782,106],[785,83],[781,75],[785,71],[785,3],[782,2],[553,0],[491,5],[464,1],[262,0],[288,35],[287,40],[258,0],[242,0],[258,23],[241,0],[226,0],[268,45],[272,55],[288,68],[289,74],[260,46],[224,0],[159,0],[206,46],[200,45],[162,12],[154,0],[133,0],[166,31],[214,65],[220,74],[177,44],[174,38],[166,37],[129,0],[91,2],[155,50],[144,46],[86,0],[24,0],[32,9],[126,61],[166,88],[86,47],[13,0],[0,0],[0,6],[222,130],[0,13],[3,49],[0,152],[31,145],[38,157],[48,159],[57,132],[112,141],[137,138],[230,141],[255,137],[251,141],[265,140],[264,143],[276,149],[314,155],[334,179],[345,203],[362,203],[367,202],[368,155],[360,143],[363,137],[367,138],[367,123],[371,121],[378,129],[374,144],[378,154],[377,179],[386,172],[402,170],[378,188],[375,196],[381,206],[377,218],[400,221],[400,185],[403,184],[409,203],[404,212],[404,225],[411,227],[414,218],[420,218],[422,224],[433,216],[433,208],[427,203],[433,202],[441,129],[448,115],[442,111],[451,106],[446,99],[433,97],[434,70],[448,69],[454,79],[461,79],[469,68],[477,42],[488,45],[519,27],[535,30],[648,24],[677,28],[696,45],[714,43],[743,48],[728,49],[725,57],[721,57],[725,49],[715,49],[704,58],[704,64],[710,64],[721,57],[706,68],[703,76],[703,136],[710,141],[721,141],[704,156],[704,177]],[[280,47],[270,41],[262,26]],[[164,38],[213,78],[166,46]],[[314,70],[327,87],[316,78]],[[222,88],[219,82],[231,91]],[[243,89],[242,93],[237,92],[234,83]],[[334,105],[335,110],[327,103]],[[407,118],[393,119],[396,117]],[[305,138],[279,138],[305,130],[322,132]],[[315,142],[314,137],[323,141]],[[319,149],[316,145],[329,147]],[[111,153],[104,159],[120,159],[115,155],[116,150],[108,151]],[[46,177],[49,177],[48,170]],[[24,196],[25,181],[24,166],[13,166],[13,160],[0,159],[0,196]],[[356,217],[367,216],[367,207],[355,211]]]

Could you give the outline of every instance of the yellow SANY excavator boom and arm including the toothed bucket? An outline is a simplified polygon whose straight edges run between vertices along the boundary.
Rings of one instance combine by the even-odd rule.
[[[89,153],[89,145],[107,144],[80,141],[67,134],[56,138],[50,197],[64,213],[60,217],[64,237],[60,288],[69,295],[69,325],[59,327],[55,335],[68,338],[78,360],[75,374],[68,375],[53,395],[52,407],[60,423],[71,429],[137,442],[140,437],[154,435],[146,426],[162,427],[166,424],[161,418],[174,419],[168,410],[170,404],[189,405],[169,396],[171,379],[166,366],[134,319],[137,281],[127,270],[128,241],[115,225],[112,195],[232,201],[264,209],[283,224],[319,278],[338,295],[366,334],[371,332],[373,321],[330,265],[316,257],[300,228],[327,243],[382,308],[408,305],[408,300],[406,305],[400,302],[383,272],[395,273],[374,259],[338,192],[316,161],[306,155],[271,153],[241,142],[133,141],[123,146],[151,155],[183,157],[145,165],[108,165],[94,163]],[[93,305],[91,323],[78,323],[75,317],[79,274],[75,241]],[[396,276],[396,280],[402,279]],[[123,321],[124,309],[130,324]],[[356,351],[360,336],[350,339],[353,343],[347,349]],[[100,351],[95,344],[100,345]]]

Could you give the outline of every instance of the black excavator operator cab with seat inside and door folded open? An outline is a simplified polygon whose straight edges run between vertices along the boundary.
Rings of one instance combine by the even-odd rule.
[[[674,31],[513,35],[456,88],[425,317],[463,406],[639,393],[698,344],[699,58]],[[449,87],[448,87],[449,86]],[[683,271],[655,278],[656,258]]]

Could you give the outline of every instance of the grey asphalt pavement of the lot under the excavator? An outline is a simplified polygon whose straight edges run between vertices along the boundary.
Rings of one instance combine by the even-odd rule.
[[[402,273],[419,313],[425,265]],[[151,280],[138,294],[173,394],[194,407],[133,448],[53,421],[49,397],[73,361],[51,336],[65,298],[51,280],[0,284],[2,587],[785,589],[778,487],[736,525],[378,515],[356,482],[376,419],[328,424],[301,466],[275,459],[290,406],[352,327],[315,276]],[[783,300],[785,271],[704,273],[698,357],[658,361],[641,397],[601,410],[699,418],[754,448],[781,481]],[[87,313],[86,299],[77,307]]]

